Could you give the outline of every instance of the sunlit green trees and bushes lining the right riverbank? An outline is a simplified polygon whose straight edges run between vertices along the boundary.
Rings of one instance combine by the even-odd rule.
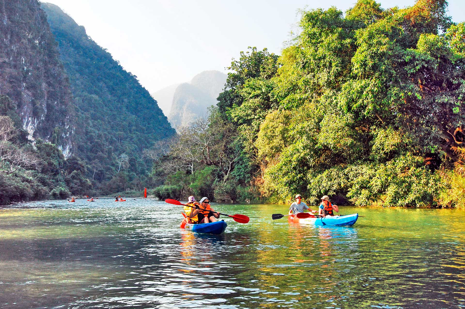
[[[157,194],[464,207],[465,25],[446,9],[302,12],[281,56],[232,62],[208,128],[194,123],[156,162]]]

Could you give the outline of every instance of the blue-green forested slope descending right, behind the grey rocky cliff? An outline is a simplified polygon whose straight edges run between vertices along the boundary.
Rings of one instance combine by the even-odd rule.
[[[103,193],[143,188],[151,161],[142,151],[171,137],[174,129],[137,76],[90,39],[84,27],[53,4],[41,7],[69,76],[76,109],[74,153],[86,161],[87,177]]]

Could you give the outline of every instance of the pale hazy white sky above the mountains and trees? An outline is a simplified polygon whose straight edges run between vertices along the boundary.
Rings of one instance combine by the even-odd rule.
[[[219,70],[248,46],[280,54],[299,8],[338,7],[355,0],[41,0],[58,5],[126,71],[153,93]],[[452,20],[465,20],[465,1],[450,0]],[[414,0],[382,0],[383,8]]]

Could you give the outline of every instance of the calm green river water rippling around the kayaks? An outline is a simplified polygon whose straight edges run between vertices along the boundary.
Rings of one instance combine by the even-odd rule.
[[[463,308],[465,211],[341,207],[353,227],[288,223],[285,205],[215,205],[224,235],[153,200],[0,208],[0,308]]]

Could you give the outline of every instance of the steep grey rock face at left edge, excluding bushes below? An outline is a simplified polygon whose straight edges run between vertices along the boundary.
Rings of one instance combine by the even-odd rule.
[[[37,0],[0,0],[0,42],[0,94],[14,102],[30,140],[51,141],[55,134],[70,155],[72,94]]]

